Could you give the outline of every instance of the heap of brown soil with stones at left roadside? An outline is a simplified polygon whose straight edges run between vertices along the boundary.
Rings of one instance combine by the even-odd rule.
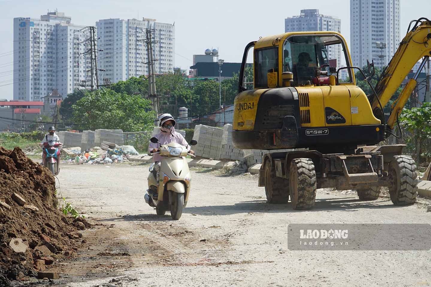
[[[23,201],[24,200],[24,201]],[[20,148],[0,147],[0,286],[37,276],[46,265],[73,256],[89,227],[63,216],[57,207],[55,177]]]

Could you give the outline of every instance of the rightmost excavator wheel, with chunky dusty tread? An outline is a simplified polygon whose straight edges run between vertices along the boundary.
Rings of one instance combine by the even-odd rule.
[[[412,157],[396,155],[389,164],[389,175],[393,184],[389,187],[390,200],[394,205],[416,202],[418,196],[418,173]]]

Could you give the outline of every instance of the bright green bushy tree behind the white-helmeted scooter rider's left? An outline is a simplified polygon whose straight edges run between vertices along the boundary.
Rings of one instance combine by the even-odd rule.
[[[149,100],[106,88],[88,93],[72,105],[72,109],[73,121],[84,130],[150,130],[155,117]]]

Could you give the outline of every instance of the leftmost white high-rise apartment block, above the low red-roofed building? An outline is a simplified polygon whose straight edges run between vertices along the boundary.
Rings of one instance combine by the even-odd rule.
[[[71,24],[60,12],[48,12],[40,19],[13,19],[13,99],[40,101],[57,89],[66,97],[87,81],[91,59],[84,40],[85,26]]]

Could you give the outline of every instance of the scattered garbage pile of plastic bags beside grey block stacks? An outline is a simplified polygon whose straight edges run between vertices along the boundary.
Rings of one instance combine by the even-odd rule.
[[[81,152],[80,147],[64,148],[65,164],[112,164],[128,161],[131,155],[139,155],[131,145],[116,145],[111,142],[102,142],[101,147],[88,148]]]

